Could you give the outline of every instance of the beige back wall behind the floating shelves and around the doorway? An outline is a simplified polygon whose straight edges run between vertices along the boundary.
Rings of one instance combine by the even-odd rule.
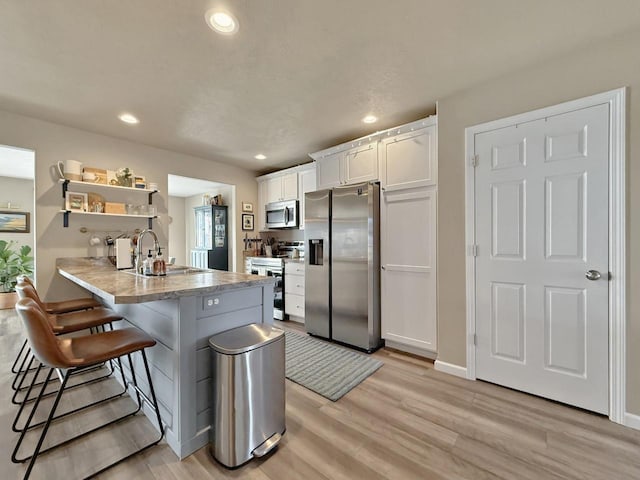
[[[130,127],[122,125],[122,128]],[[38,289],[46,300],[86,294],[55,272],[56,258],[88,255],[88,237],[79,232],[81,226],[89,229],[125,230],[146,226],[146,221],[135,218],[72,215],[69,228],[63,228],[62,214],[59,213],[62,206],[61,188],[52,168],[59,160],[73,158],[87,166],[107,169],[128,166],[136,173],[146,176],[147,181],[157,182],[160,192],[154,196],[154,205],[160,218],[154,221],[153,228],[161,245],[165,246],[169,230],[166,193],[169,174],[236,185],[239,199],[257,204],[258,189],[254,172],[210,159],[153,148],[1,110],[0,144],[28,148],[36,152],[36,275]],[[111,197],[112,194],[108,195]],[[139,202],[142,195],[136,192],[134,201]],[[237,217],[237,228],[240,228],[241,213],[237,210],[234,215]],[[239,237],[240,235],[237,236],[236,242],[239,241]],[[242,255],[241,242],[236,243],[235,247],[236,256]],[[237,261],[241,264],[242,258]]]

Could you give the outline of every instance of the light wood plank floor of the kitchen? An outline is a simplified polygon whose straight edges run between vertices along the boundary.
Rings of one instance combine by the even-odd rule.
[[[11,311],[0,312],[0,478],[11,479],[20,478],[24,468],[9,460],[16,439],[10,430],[16,407],[9,402],[9,367],[22,339],[18,322]],[[287,381],[287,432],[267,458],[226,470],[206,448],[181,462],[162,443],[102,478],[640,479],[640,431],[436,372],[430,362],[392,351],[374,356],[384,366],[335,403]],[[97,415],[105,414],[89,417]],[[89,421],[61,423],[52,438]],[[32,478],[86,475],[102,458],[150,434],[148,421],[137,418],[42,457]]]

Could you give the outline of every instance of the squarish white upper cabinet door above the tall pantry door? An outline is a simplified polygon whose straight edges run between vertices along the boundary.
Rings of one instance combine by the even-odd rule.
[[[381,184],[387,191],[436,185],[436,127],[385,138],[380,142]]]

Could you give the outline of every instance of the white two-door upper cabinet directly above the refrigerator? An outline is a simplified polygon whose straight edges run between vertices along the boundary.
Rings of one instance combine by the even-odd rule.
[[[318,189],[378,179],[378,142],[372,141],[317,160]]]

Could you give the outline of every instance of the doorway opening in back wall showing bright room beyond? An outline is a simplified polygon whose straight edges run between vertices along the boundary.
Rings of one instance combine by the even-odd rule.
[[[228,270],[236,270],[236,186],[199,178],[168,175],[169,255],[177,265],[207,268],[204,252],[225,244],[228,247]],[[198,209],[206,205],[227,207],[227,228],[197,222]],[[214,219],[215,223],[215,219]],[[205,231],[206,228],[210,230]],[[214,231],[215,229],[215,231]],[[203,243],[203,238],[210,239]],[[210,245],[208,245],[209,243]],[[212,248],[208,248],[212,247]]]

